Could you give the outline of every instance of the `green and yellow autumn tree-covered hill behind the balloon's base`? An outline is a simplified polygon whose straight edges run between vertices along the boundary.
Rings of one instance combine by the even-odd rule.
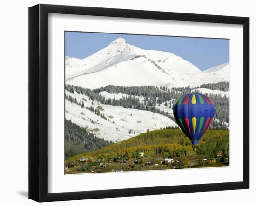
[[[191,155],[208,155],[215,157],[218,151],[223,151],[225,156],[229,156],[229,130],[209,129],[193,151],[191,142],[180,129],[168,128],[162,130],[150,131],[123,140],[119,143],[113,143],[88,153],[82,153],[70,159],[77,160],[84,156],[94,156],[95,158],[105,157],[113,159],[114,156],[136,157],[139,152],[144,152],[145,156],[162,153],[168,157],[182,157]]]

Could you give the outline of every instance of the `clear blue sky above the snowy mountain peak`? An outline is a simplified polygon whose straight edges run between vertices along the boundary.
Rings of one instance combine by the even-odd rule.
[[[229,40],[134,34],[66,32],[66,55],[83,59],[121,37],[141,49],[171,52],[199,69],[229,62]]]

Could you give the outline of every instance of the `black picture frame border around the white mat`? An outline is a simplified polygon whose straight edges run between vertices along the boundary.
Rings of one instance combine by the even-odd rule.
[[[243,181],[48,193],[48,14],[79,14],[243,25]],[[29,199],[98,199],[249,188],[249,18],[39,4],[29,8]]]

